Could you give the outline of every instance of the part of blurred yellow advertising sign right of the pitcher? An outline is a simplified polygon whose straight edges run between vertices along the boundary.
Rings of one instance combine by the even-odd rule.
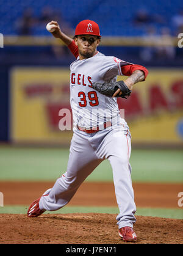
[[[183,70],[151,68],[146,81],[134,85],[128,100],[118,100],[132,142],[183,145]]]

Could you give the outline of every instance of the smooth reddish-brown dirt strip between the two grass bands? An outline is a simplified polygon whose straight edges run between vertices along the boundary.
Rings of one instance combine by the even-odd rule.
[[[54,182],[0,181],[4,193],[4,205],[30,205]],[[180,183],[134,183],[137,207],[179,208],[178,193],[183,191]],[[84,182],[68,205],[118,207],[112,182]]]

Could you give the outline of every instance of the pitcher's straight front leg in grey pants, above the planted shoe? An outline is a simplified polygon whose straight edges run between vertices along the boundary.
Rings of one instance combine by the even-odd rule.
[[[127,131],[118,128],[107,136],[103,147],[106,149],[106,157],[109,159],[113,170],[113,182],[120,214],[117,216],[117,224],[121,227],[133,227],[136,206],[134,202],[134,190],[131,180],[131,137]],[[102,151],[102,150],[101,150]]]

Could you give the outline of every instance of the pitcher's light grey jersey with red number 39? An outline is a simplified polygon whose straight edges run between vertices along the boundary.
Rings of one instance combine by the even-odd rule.
[[[97,52],[88,59],[77,57],[70,65],[70,103],[74,125],[91,128],[119,115],[117,98],[106,97],[91,85],[93,82],[117,81],[117,76],[123,75],[121,65],[126,64],[130,63]]]

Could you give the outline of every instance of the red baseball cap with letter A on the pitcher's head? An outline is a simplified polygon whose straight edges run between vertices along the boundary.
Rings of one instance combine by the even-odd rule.
[[[97,35],[101,37],[99,26],[93,20],[82,20],[77,24],[75,35]]]

